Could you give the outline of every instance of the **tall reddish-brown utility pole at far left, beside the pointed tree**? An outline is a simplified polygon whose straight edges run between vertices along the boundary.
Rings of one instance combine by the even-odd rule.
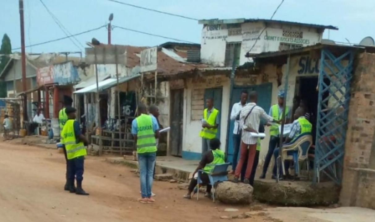
[[[24,26],[24,7],[23,0],[19,1],[20,24],[21,24],[21,63],[22,63],[22,89],[23,96],[23,121],[27,119],[27,95],[26,95],[26,52],[25,52],[25,26]]]

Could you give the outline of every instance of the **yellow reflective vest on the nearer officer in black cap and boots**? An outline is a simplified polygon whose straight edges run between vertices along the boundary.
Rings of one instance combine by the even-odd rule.
[[[68,160],[87,155],[85,145],[83,142],[77,142],[75,137],[74,121],[75,120],[66,121],[60,134],[60,142],[65,145]]]

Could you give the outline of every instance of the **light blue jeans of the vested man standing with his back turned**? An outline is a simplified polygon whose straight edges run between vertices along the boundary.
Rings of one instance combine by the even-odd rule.
[[[151,197],[156,152],[138,154],[142,198]]]

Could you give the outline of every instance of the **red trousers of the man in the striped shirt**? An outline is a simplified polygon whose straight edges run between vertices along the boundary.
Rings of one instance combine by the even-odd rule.
[[[248,147],[249,147],[249,154],[248,154]],[[246,158],[248,158],[248,166],[246,167],[245,178],[246,179],[250,178],[251,170],[254,165],[254,158],[255,158],[256,152],[257,152],[257,144],[245,144],[244,142],[241,141],[240,161],[237,164],[236,174],[235,174],[237,178],[239,178],[241,175],[241,169],[242,169],[243,163],[245,163]]]

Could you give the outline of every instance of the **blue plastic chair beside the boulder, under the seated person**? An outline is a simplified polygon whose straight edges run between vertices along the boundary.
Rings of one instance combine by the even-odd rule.
[[[212,186],[211,193],[213,202],[215,202],[215,188],[214,185],[217,182],[228,181],[228,167],[230,163],[217,164],[211,173],[208,174],[208,179],[210,179],[210,185]],[[196,199],[199,200],[199,184],[202,184],[201,175],[205,173],[203,170],[198,170],[198,191]]]

